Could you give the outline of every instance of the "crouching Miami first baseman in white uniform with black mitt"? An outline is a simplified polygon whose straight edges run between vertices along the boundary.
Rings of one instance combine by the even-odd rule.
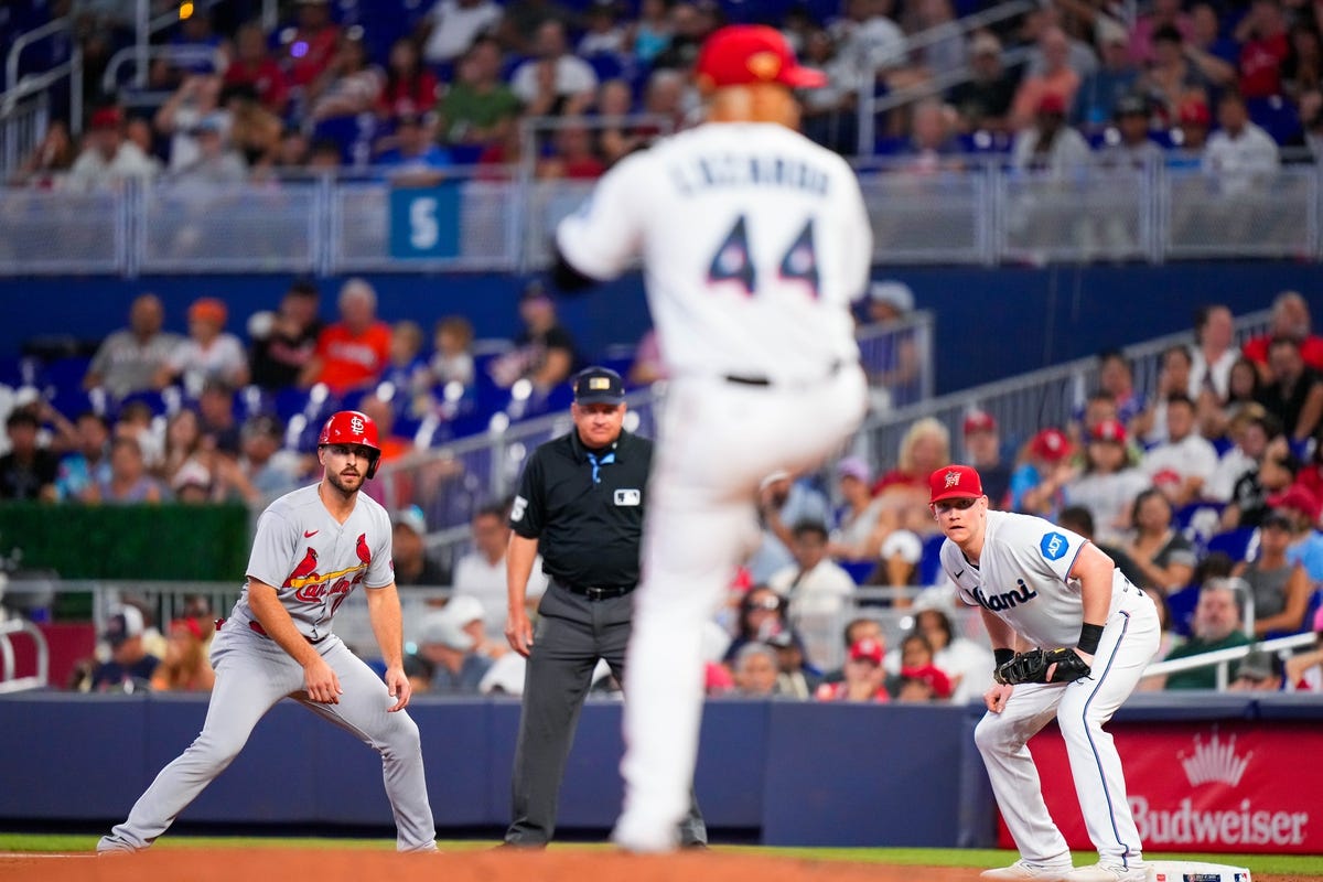
[[[988,510],[968,465],[937,469],[929,488],[946,534],[942,569],[960,599],[980,607],[998,660],[974,739],[1020,860],[983,878],[1144,882],[1121,756],[1102,726],[1158,653],[1152,600],[1084,537],[1040,517]],[[1093,866],[1072,866],[1027,746],[1053,717],[1098,849]]]

